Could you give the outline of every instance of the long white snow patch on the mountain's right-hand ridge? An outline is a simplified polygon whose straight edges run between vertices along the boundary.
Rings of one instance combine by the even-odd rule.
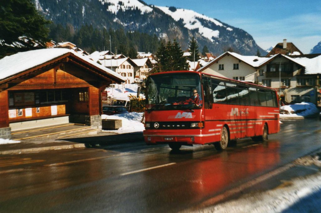
[[[200,21],[197,20],[197,17],[205,19],[207,21],[213,22],[217,26],[223,27],[223,24],[213,18],[210,18],[208,16],[202,15],[200,13],[196,13],[193,10],[186,10],[186,9],[176,9],[175,12],[172,12],[169,10],[168,7],[161,7],[156,6],[160,10],[162,10],[164,13],[170,15],[175,21],[179,21],[180,19],[183,19],[184,26],[189,30],[194,30],[198,28],[198,32],[203,35],[205,38],[210,39],[212,42],[213,37],[218,38],[220,35],[219,30],[212,30],[210,28],[204,27]],[[229,28],[228,30],[232,30]]]

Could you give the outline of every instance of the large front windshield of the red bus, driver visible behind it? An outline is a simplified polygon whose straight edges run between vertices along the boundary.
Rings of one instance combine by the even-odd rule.
[[[152,75],[147,80],[147,110],[199,109],[203,105],[196,73]]]

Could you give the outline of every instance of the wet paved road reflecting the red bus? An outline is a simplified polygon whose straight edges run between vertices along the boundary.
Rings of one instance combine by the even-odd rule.
[[[321,122],[284,122],[266,143],[145,146],[0,156],[0,212],[177,212],[321,148]]]

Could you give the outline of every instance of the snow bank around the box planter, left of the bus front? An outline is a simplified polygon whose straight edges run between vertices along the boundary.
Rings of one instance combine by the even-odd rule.
[[[121,119],[122,127],[118,130],[103,130],[102,132],[113,132],[117,134],[129,132],[143,132],[144,124],[141,123],[143,117],[142,112],[131,112],[118,115],[101,115],[101,119]]]

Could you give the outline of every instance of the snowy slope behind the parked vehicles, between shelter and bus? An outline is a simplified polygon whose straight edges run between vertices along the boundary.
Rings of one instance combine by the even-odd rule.
[[[137,84],[112,84],[110,86],[105,89],[108,98],[129,99],[130,96],[137,97]],[[143,94],[140,94],[139,97],[145,99]]]

